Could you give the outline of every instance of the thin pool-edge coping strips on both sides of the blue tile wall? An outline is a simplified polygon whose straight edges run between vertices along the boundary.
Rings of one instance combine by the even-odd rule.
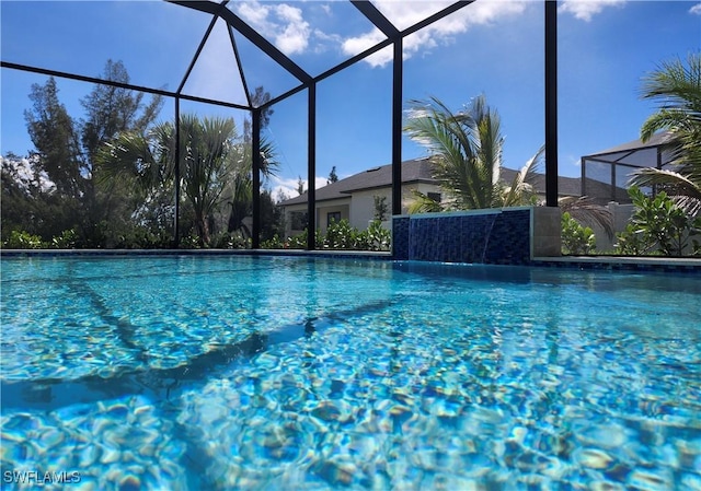
[[[0,257],[289,256],[394,260],[390,252],[304,249],[0,249]],[[487,265],[489,266],[489,265]],[[560,256],[533,257],[525,267],[701,273],[701,258]]]

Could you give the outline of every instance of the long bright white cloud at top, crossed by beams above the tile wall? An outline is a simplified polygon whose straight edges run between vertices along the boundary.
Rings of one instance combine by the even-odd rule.
[[[452,2],[375,2],[384,16],[400,30],[421,22],[450,3]],[[517,15],[524,12],[527,3],[528,1],[474,2],[405,37],[403,57],[407,59],[420,51],[429,50],[438,44],[448,44],[456,35],[467,32],[473,25],[490,24],[503,16]],[[342,50],[344,55],[354,56],[377,45],[382,39],[384,39],[384,35],[378,28],[372,28],[360,36],[345,39],[342,44]],[[366,58],[365,61],[372,67],[383,67],[391,60],[392,49],[386,48]]]

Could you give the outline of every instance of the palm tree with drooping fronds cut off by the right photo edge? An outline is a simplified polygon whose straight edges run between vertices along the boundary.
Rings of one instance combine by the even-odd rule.
[[[643,124],[643,142],[659,130],[669,133],[666,148],[670,168],[641,168],[633,186],[660,186],[689,214],[701,212],[701,52],[662,63],[643,81],[643,97],[659,102],[659,109]]]

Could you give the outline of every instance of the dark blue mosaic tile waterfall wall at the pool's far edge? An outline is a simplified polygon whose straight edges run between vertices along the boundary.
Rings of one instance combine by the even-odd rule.
[[[530,262],[530,210],[397,217],[392,229],[397,260]]]

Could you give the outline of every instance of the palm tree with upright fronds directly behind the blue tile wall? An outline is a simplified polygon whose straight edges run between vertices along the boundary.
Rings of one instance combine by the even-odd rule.
[[[449,196],[447,202],[437,203],[414,191],[416,200],[410,212],[513,207],[535,198],[530,183],[543,148],[516,174],[510,185],[504,184],[501,118],[483,95],[456,114],[436,97],[427,103],[412,101],[404,130],[412,140],[428,149],[434,177]]]

